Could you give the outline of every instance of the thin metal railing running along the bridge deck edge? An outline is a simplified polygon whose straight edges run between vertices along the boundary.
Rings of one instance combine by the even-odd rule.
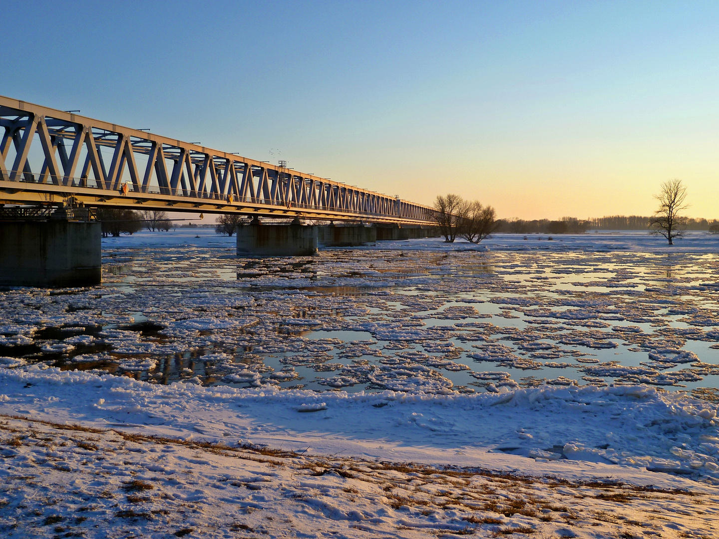
[[[37,174],[35,172],[25,172],[25,171],[19,171],[19,170],[4,170],[0,169],[0,180],[5,181],[15,181],[18,183],[36,183],[36,184],[45,184],[45,185],[58,185],[58,183],[55,183],[52,181],[52,178],[48,174]],[[91,188],[91,189],[105,189],[105,186],[103,185],[101,180],[96,180],[95,178],[68,178],[68,182],[66,184],[62,185],[63,187],[69,187],[69,188]],[[380,213],[380,212],[368,212],[368,211],[356,211],[349,208],[341,208],[338,206],[326,206],[321,204],[304,204],[304,203],[296,203],[293,201],[289,202],[283,202],[283,201],[275,201],[275,200],[267,200],[262,197],[245,197],[245,198],[237,198],[234,195],[223,195],[221,193],[210,193],[209,191],[203,191],[201,193],[195,193],[186,195],[183,193],[183,189],[178,187],[175,189],[172,188],[163,188],[163,187],[154,187],[154,186],[148,186],[147,190],[135,190],[132,183],[122,183],[121,188],[116,190],[120,195],[125,196],[132,196],[134,195],[169,195],[169,196],[176,196],[181,198],[188,198],[191,200],[196,201],[217,201],[219,203],[225,203],[229,206],[234,205],[242,205],[242,204],[252,204],[254,206],[273,206],[275,208],[286,208],[286,209],[305,209],[305,210],[311,210],[311,211],[326,211],[329,213],[337,213],[337,214],[345,214],[345,215],[353,215],[357,216],[358,218],[362,217],[389,217],[393,216],[392,213]],[[174,191],[174,192],[173,192]],[[186,211],[187,208],[182,208],[182,211]],[[396,215],[398,217],[398,214]],[[430,216],[427,216],[427,220],[429,220]]]

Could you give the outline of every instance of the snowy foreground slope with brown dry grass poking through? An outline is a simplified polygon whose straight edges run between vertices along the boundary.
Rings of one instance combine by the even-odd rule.
[[[4,416],[7,538],[712,538],[719,490],[571,483]]]

